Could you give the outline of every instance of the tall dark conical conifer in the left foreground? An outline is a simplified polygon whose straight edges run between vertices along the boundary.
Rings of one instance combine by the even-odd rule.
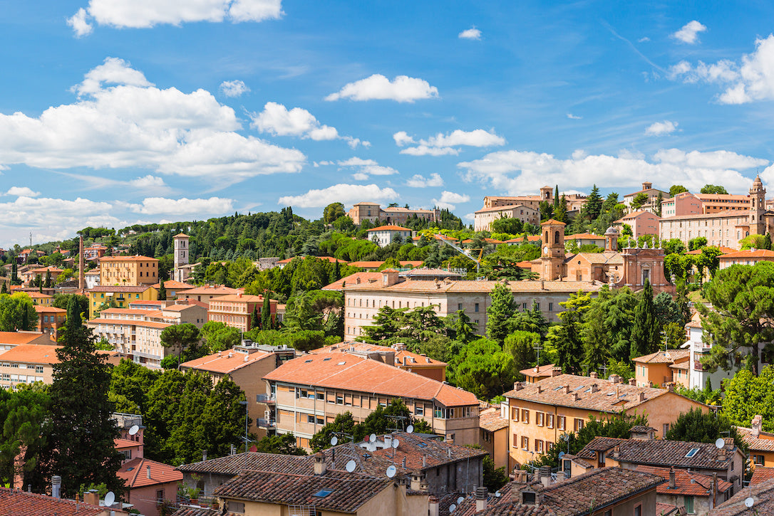
[[[94,337],[80,319],[75,296],[67,303],[67,324],[57,349],[59,363],[53,366],[50,413],[44,433],[48,460],[40,464],[38,481],[47,484],[51,475],[62,477],[63,497],[72,497],[81,484],[123,487],[116,477],[121,455],[113,440],[118,426],[111,419],[114,405],[108,399],[111,373],[104,355],[95,353]]]

